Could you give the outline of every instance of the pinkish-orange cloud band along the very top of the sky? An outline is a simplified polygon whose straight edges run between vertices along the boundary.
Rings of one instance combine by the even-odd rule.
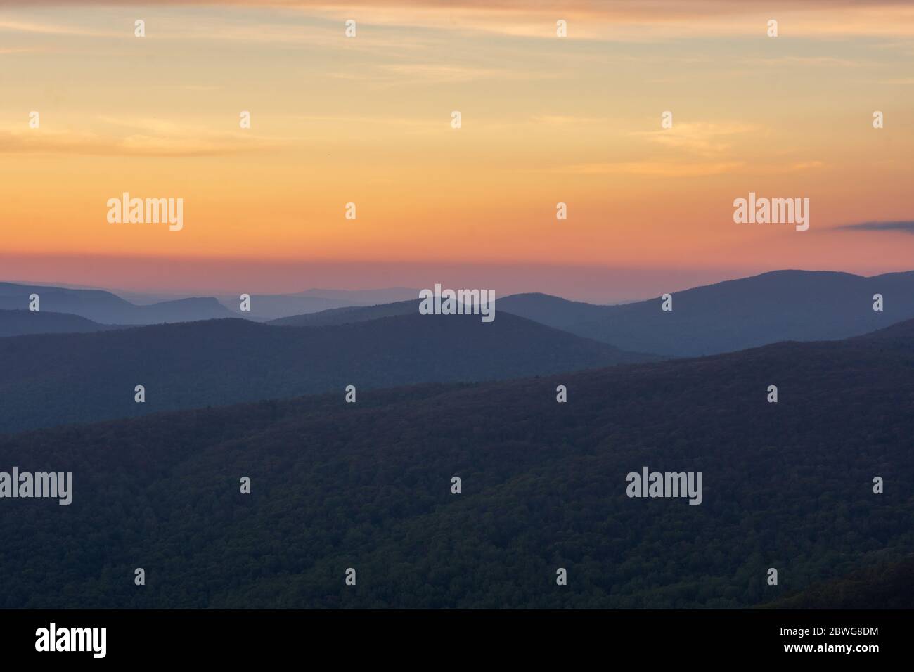
[[[0,7],[181,7],[221,5],[286,9],[368,26],[436,27],[514,37],[556,37],[556,20],[569,22],[570,39],[632,41],[657,37],[764,36],[777,15],[791,36],[914,35],[909,0],[0,0]],[[14,28],[14,27],[9,27]],[[44,31],[58,27],[18,27]]]

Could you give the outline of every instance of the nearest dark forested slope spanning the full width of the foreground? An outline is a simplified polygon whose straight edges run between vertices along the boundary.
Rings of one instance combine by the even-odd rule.
[[[74,478],[69,506],[0,500],[0,607],[771,603],[914,551],[912,345],[908,323],[0,438],[0,468]],[[627,497],[643,466],[701,472],[702,503]]]

